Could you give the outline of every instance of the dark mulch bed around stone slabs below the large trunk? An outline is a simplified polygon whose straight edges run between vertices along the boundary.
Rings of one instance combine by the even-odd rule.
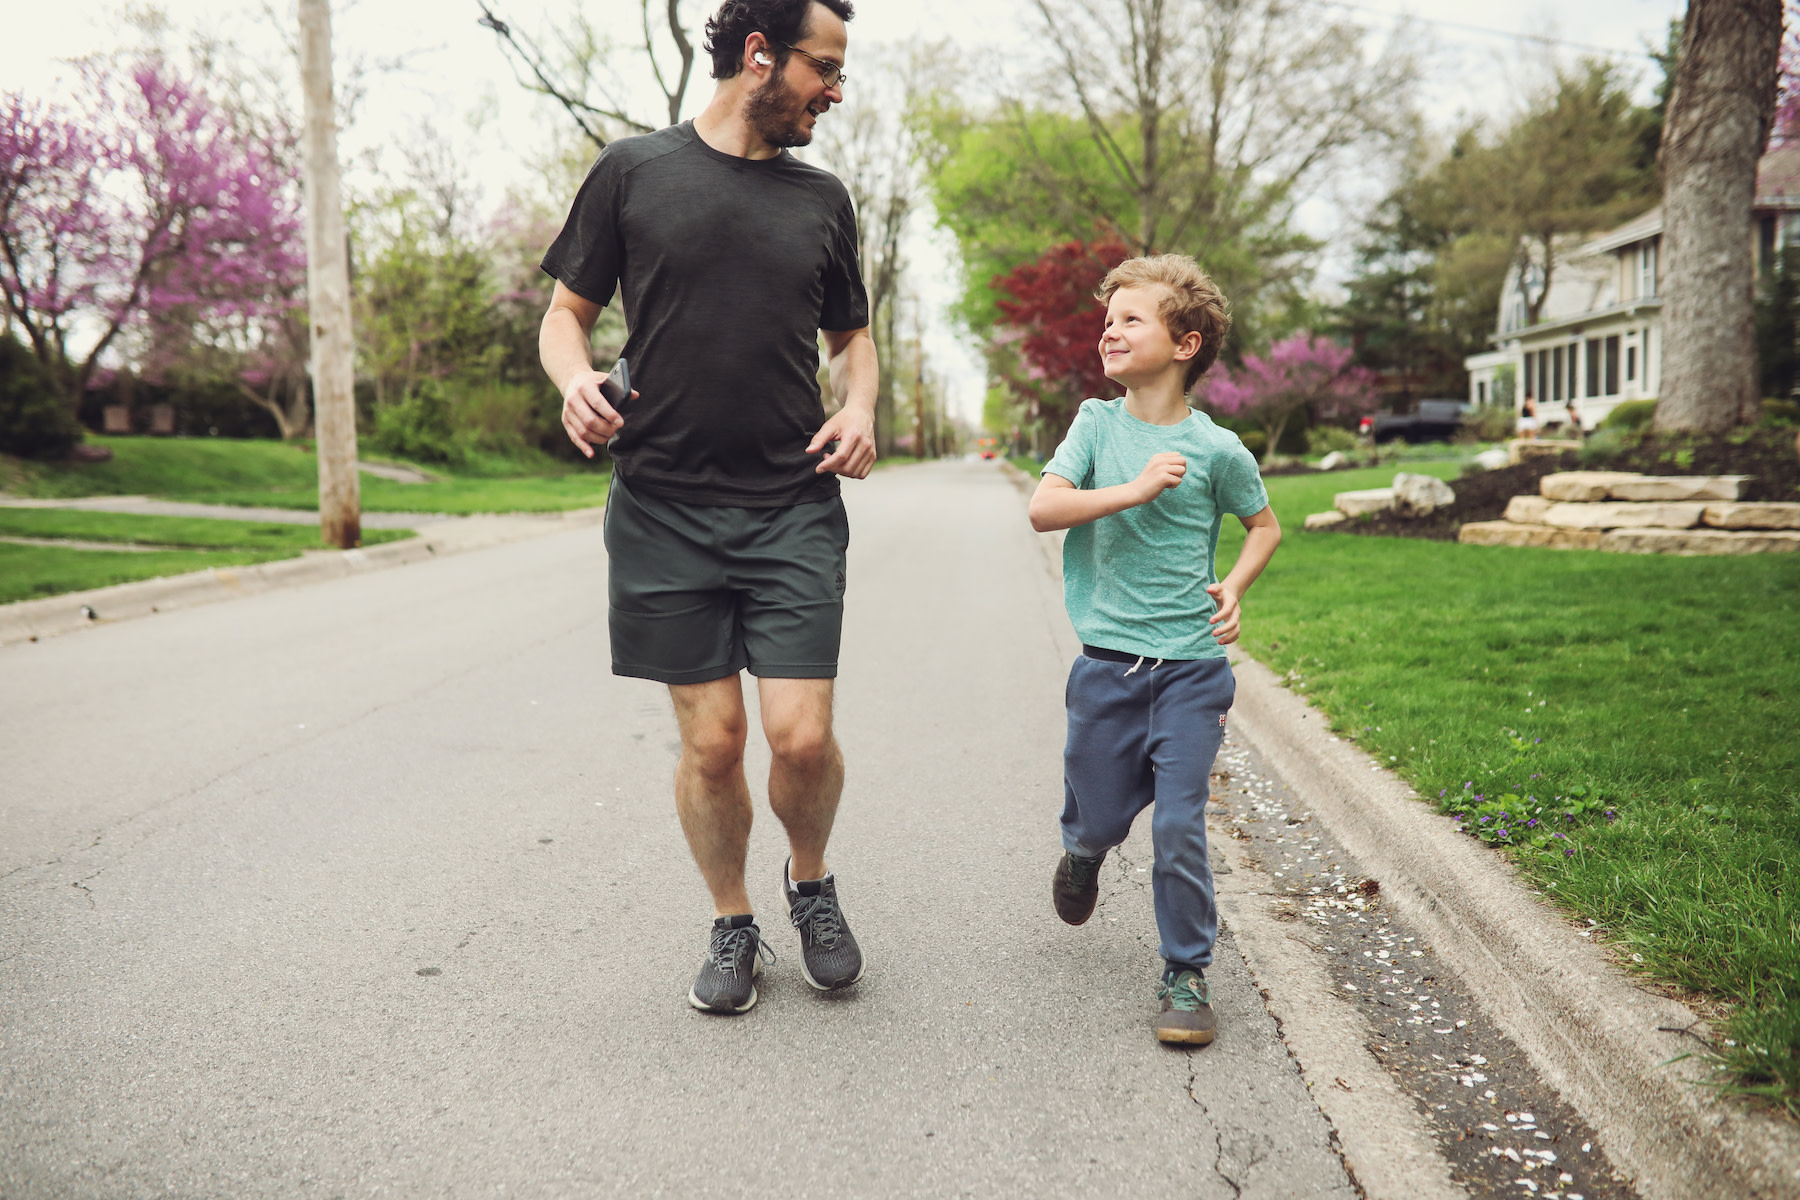
[[[1406,470],[1399,466],[1397,470]],[[1512,497],[1535,497],[1537,480],[1555,471],[1642,471],[1645,475],[1751,475],[1744,484],[1746,500],[1800,500],[1800,455],[1793,430],[1753,430],[1750,437],[1694,437],[1688,434],[1645,434],[1606,461],[1582,462],[1577,453],[1532,459],[1498,471],[1471,471],[1451,480],[1456,502],[1426,516],[1375,513],[1354,516],[1336,533],[1377,538],[1427,538],[1454,542],[1465,522],[1499,520]]]

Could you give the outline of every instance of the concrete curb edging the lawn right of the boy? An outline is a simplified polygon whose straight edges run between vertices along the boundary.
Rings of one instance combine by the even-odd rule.
[[[1800,1196],[1800,1130],[1697,1087],[1701,1060],[1670,1061],[1697,1049],[1679,1031],[1706,1036],[1688,1007],[1640,988],[1265,666],[1238,653],[1233,669],[1238,734],[1309,797],[1645,1200]]]

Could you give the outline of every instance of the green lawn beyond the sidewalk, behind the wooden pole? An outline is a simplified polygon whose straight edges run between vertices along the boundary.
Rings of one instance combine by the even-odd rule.
[[[7,459],[0,488],[16,497],[67,498],[149,495],[169,500],[239,504],[281,509],[319,507],[319,462],[299,443],[223,437],[88,437],[108,446],[112,462],[81,466]],[[551,464],[545,468],[545,464]],[[544,513],[607,502],[610,473],[551,459],[517,475],[493,464],[482,473],[437,468],[428,484],[396,484],[362,477],[369,513]]]

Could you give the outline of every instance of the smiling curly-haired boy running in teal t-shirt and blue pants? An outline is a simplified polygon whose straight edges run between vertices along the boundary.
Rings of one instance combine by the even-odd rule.
[[[1100,358],[1123,399],[1087,399],[1031,497],[1035,529],[1067,529],[1064,604],[1082,639],[1069,671],[1064,856],[1051,900],[1069,925],[1094,910],[1100,864],[1156,804],[1150,891],[1161,936],[1159,1042],[1213,1040],[1206,968],[1219,914],[1206,801],[1237,684],[1226,646],[1238,601],[1282,542],[1256,461],[1186,403],[1231,317],[1193,259],[1159,254],[1107,273]],[[1226,513],[1246,527],[1222,581]]]

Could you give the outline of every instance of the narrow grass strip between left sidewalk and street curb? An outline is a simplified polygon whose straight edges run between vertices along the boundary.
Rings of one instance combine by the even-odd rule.
[[[247,567],[326,549],[317,525],[137,516],[79,509],[0,509],[0,536],[128,542],[167,551],[86,551],[0,542],[0,604],[85,592],[113,583],[178,576],[207,567]],[[410,529],[365,529],[364,545],[414,536]],[[173,549],[178,547],[178,549]]]

